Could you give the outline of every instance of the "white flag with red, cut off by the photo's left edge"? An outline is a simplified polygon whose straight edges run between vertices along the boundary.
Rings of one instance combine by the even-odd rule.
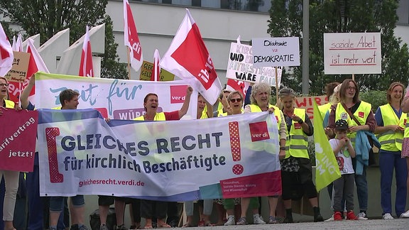
[[[13,49],[0,23],[0,76],[4,77],[13,65]]]

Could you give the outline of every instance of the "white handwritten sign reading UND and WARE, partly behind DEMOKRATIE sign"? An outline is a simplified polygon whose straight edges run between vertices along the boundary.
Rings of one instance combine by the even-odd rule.
[[[226,77],[244,82],[264,82],[276,87],[276,70],[273,67],[253,67],[251,45],[231,43]],[[281,67],[277,68],[278,86],[281,82]]]

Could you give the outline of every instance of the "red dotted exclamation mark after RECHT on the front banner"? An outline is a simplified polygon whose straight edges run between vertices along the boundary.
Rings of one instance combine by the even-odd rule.
[[[241,160],[241,148],[240,148],[240,133],[239,133],[239,122],[232,121],[229,122],[229,135],[230,135],[230,149],[233,161]],[[233,173],[240,175],[243,173],[243,165],[236,164],[233,166]]]

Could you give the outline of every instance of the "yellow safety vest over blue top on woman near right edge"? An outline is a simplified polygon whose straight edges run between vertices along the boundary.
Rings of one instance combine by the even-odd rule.
[[[384,104],[379,106],[381,109],[383,126],[400,125],[405,128],[406,114],[402,114],[400,119],[396,116],[391,104]],[[402,150],[403,133],[388,130],[376,135],[379,143],[381,143],[382,150],[399,151]]]

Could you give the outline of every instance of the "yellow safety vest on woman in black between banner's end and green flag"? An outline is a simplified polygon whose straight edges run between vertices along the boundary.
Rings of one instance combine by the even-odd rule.
[[[305,121],[305,109],[294,108],[294,114],[299,116],[302,121]],[[290,141],[285,141],[285,158],[289,158],[292,155],[295,158],[307,158],[308,155],[308,137],[302,131],[302,126],[297,121],[293,121],[290,128]]]

